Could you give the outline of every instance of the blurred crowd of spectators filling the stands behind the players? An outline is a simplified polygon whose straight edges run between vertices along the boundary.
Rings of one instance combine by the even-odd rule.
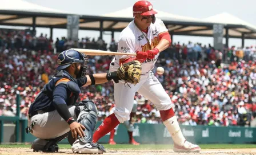
[[[0,29],[0,116],[15,116],[16,95],[21,96],[21,119],[35,96],[55,74],[58,53],[71,47],[100,50],[117,49],[112,40],[82,38],[78,42],[34,37],[24,30]],[[54,50],[55,48],[55,50]],[[111,56],[89,56],[89,72],[109,70]],[[225,62],[225,65],[221,65]],[[165,68],[163,75],[155,69]],[[200,43],[173,43],[161,52],[153,70],[174,103],[182,125],[241,125],[249,127],[256,113],[255,47],[223,48],[219,52]],[[78,100],[93,100],[98,107],[98,120],[114,107],[113,83],[83,88]],[[136,93],[137,123],[162,123],[159,111],[150,100]]]

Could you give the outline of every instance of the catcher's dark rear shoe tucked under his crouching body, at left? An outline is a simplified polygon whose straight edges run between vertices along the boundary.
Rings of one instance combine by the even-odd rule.
[[[68,133],[65,133],[62,136],[46,140],[37,138],[33,141],[31,149],[33,149],[34,152],[58,152],[59,146],[57,145],[57,143],[67,138],[67,135]]]

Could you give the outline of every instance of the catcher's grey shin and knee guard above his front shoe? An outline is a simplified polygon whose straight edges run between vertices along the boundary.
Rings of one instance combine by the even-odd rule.
[[[82,104],[84,105],[84,107],[82,111],[79,112],[77,122],[85,127],[85,130],[83,131],[85,133],[85,137],[78,136],[78,138],[80,141],[86,143],[93,141],[93,132],[97,123],[98,109],[93,101],[90,100],[81,101],[79,103],[79,106]],[[71,133],[69,133],[68,140],[69,143],[73,145],[75,140],[71,136]]]

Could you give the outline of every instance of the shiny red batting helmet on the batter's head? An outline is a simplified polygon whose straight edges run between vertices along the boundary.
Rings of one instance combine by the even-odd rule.
[[[153,6],[149,1],[138,1],[133,5],[133,16],[135,15],[154,15],[157,14],[153,10]]]

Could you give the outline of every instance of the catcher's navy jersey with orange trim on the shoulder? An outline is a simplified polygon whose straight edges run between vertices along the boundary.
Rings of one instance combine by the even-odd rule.
[[[74,104],[83,84],[80,80],[72,78],[66,71],[58,72],[35,97],[35,101],[29,108],[29,113],[39,110],[43,112],[54,111],[57,104]],[[70,87],[73,87],[73,89],[70,89]],[[77,87],[78,90],[74,91],[74,87]]]

